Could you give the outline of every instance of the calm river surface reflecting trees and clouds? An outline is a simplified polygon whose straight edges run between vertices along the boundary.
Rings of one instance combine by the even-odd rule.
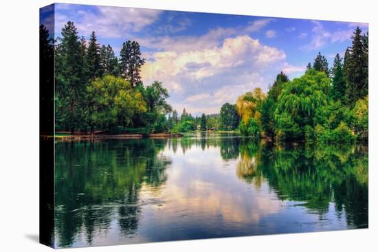
[[[56,247],[368,227],[366,146],[238,135],[56,144]]]

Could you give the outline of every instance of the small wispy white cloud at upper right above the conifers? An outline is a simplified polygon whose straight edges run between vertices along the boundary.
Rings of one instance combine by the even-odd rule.
[[[312,21],[311,42],[301,47],[304,51],[312,51],[324,47],[327,43],[343,42],[351,38],[353,29],[338,30],[336,32],[327,31],[320,21]]]

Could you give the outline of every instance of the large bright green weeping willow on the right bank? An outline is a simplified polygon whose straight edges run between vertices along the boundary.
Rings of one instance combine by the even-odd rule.
[[[304,129],[314,126],[317,108],[328,104],[329,92],[329,77],[314,69],[285,83],[275,111],[277,137],[282,140],[304,139]]]

